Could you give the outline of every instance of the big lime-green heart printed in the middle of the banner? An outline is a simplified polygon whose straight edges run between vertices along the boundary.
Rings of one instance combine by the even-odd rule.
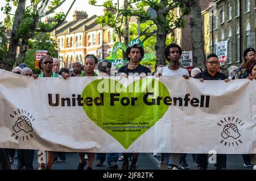
[[[147,93],[153,94],[145,96]],[[168,110],[169,106],[157,96],[165,98],[170,94],[162,82],[152,78],[139,79],[127,87],[113,79],[97,79],[82,92],[86,115],[125,149]],[[147,105],[154,100],[159,105]]]

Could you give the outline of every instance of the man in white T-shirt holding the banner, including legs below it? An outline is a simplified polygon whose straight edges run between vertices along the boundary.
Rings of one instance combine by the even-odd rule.
[[[174,77],[184,77],[185,79],[189,78],[188,70],[179,67],[179,60],[182,54],[182,49],[179,45],[175,43],[171,43],[164,49],[164,56],[166,60],[170,62],[168,66],[164,68],[160,68],[158,73],[156,73],[156,77],[161,75],[163,76],[174,76]],[[180,161],[180,153],[166,153],[163,154],[164,159],[163,163],[167,165],[171,165],[172,170],[177,170]],[[162,155],[162,156],[163,156]],[[187,164],[187,163],[186,163]],[[183,169],[188,169],[189,166],[187,165]]]

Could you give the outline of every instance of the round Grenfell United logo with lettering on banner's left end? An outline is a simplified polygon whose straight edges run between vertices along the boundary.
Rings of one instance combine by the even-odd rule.
[[[18,141],[26,141],[33,138],[32,121],[35,121],[30,112],[18,109],[10,114],[13,122],[13,133],[11,137]]]

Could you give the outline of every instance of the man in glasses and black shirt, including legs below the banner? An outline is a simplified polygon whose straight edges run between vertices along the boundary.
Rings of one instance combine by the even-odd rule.
[[[205,71],[202,71],[194,78],[199,79],[199,81],[204,82],[204,80],[225,80],[228,82],[229,79],[225,74],[218,72],[218,68],[220,67],[220,62],[218,61],[218,57],[216,54],[212,53],[207,56],[207,61],[205,61],[205,67],[207,68]],[[207,169],[208,166],[208,155],[207,154],[197,154],[196,163],[199,165],[200,170]],[[226,154],[217,154],[217,170],[226,169]]]

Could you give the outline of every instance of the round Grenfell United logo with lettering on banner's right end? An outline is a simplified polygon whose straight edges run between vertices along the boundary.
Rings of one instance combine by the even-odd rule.
[[[228,147],[235,147],[242,144],[241,129],[245,123],[237,117],[228,116],[218,121],[217,125],[221,127],[220,144]]]

